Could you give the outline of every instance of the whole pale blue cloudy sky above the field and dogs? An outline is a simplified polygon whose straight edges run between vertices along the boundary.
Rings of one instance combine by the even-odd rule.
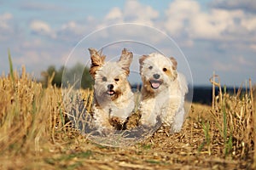
[[[194,85],[211,85],[209,78],[213,71],[228,86],[240,86],[248,78],[255,83],[256,1],[157,2],[0,1],[0,71],[9,72],[8,48],[18,71],[21,65],[26,65],[27,71],[40,77],[40,72],[49,65],[58,68],[67,62],[86,63],[89,59],[86,48],[101,48],[113,40],[118,41],[116,37],[125,35],[126,39],[151,44],[166,55],[176,55],[178,69],[186,76],[190,69]],[[122,23],[136,23],[141,27],[103,29]],[[189,67],[163,34],[154,34],[155,31],[147,26],[172,37],[188,60]],[[76,46],[99,29],[102,31]],[[106,53],[109,51],[108,54],[116,56],[125,48],[122,45],[137,50],[133,51],[137,57],[152,51],[145,46],[120,43],[106,48]],[[73,50],[78,52],[70,55]],[[132,69],[136,71],[137,66]],[[188,76],[188,79],[192,82],[192,78]]]

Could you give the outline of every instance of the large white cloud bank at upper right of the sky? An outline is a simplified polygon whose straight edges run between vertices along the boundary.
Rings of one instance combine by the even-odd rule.
[[[192,40],[238,41],[241,38],[252,39],[252,35],[256,38],[255,14],[247,14],[239,8],[204,11],[199,3],[189,0],[170,3],[166,10],[165,28],[171,35],[186,35]]]

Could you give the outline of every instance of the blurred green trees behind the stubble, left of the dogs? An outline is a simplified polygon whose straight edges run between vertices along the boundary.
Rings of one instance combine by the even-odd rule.
[[[46,71],[41,72],[42,80],[44,87],[46,88],[48,84],[55,85],[58,88],[67,86],[67,84],[62,84],[62,79],[78,79],[81,77],[81,80],[76,84],[76,87],[79,88],[92,88],[93,79],[90,76],[90,69],[84,67],[84,65],[78,63],[71,68],[61,66],[59,69],[56,69],[55,65],[49,65]],[[65,73],[63,75],[63,73]],[[76,78],[75,78],[76,77]],[[65,80],[63,82],[66,82]],[[73,82],[71,82],[72,84]]]

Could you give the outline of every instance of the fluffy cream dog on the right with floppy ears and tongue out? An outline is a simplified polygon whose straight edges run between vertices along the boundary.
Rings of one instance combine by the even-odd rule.
[[[140,74],[143,80],[142,101],[139,111],[141,123],[154,126],[158,118],[171,133],[181,130],[184,121],[184,96],[187,82],[177,72],[177,61],[162,54],[143,55],[140,59]]]

